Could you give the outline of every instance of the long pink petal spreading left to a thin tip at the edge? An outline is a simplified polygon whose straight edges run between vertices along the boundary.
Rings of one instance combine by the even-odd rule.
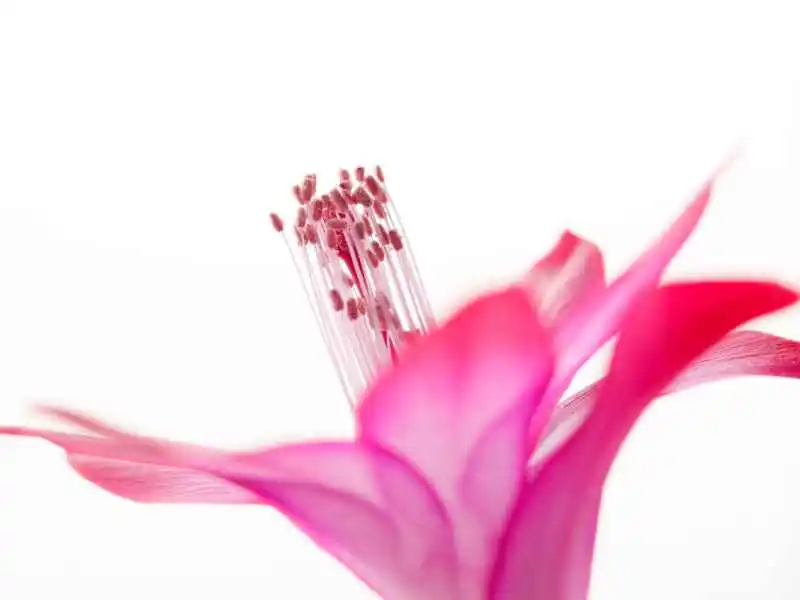
[[[66,450],[103,489],[139,502],[273,506],[389,600],[459,600],[450,522],[427,483],[386,450],[364,443],[224,453],[120,432],[53,411],[91,432],[3,427]]]

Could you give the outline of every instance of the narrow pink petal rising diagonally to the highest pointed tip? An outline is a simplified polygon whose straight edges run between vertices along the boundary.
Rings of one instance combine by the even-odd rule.
[[[580,366],[616,334],[636,301],[658,285],[664,270],[697,226],[711,198],[714,181],[712,178],[706,183],[683,214],[627,271],[600,293],[585,298],[562,320],[553,340],[555,373],[531,419],[531,451]]]

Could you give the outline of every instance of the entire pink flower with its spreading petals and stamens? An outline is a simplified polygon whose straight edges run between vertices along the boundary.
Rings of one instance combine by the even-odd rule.
[[[375,182],[364,184],[373,201],[385,191]],[[304,207],[311,187],[298,189]],[[376,264],[355,233],[331,236],[325,249],[303,229],[294,256],[345,389],[360,399],[353,440],[223,452],[60,409],[46,412],[83,434],[0,433],[58,444],[83,477],[134,501],[273,506],[387,600],[584,600],[605,477],[650,402],[725,377],[800,375],[796,342],[734,331],[792,304],[794,292],[758,281],[659,286],[711,191],[610,285],[599,250],[565,233],[523,282],[440,327],[410,255]],[[353,232],[348,219],[326,229],[319,215],[310,236]],[[327,264],[334,255],[355,275]],[[323,294],[342,294],[339,276],[363,277],[347,290],[365,305],[357,315]],[[403,300],[415,308],[399,308]],[[410,323],[425,332],[413,344]],[[577,369],[614,337],[605,379],[559,405]]]

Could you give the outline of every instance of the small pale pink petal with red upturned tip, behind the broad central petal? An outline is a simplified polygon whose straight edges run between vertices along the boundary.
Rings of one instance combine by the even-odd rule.
[[[542,323],[556,326],[605,287],[603,255],[593,243],[565,231],[523,278],[522,285],[533,296]]]

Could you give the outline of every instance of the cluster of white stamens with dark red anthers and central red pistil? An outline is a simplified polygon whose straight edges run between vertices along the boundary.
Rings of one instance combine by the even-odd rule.
[[[379,370],[434,325],[414,255],[380,167],[339,172],[317,194],[317,178],[294,186],[297,217],[289,249],[351,406]]]

